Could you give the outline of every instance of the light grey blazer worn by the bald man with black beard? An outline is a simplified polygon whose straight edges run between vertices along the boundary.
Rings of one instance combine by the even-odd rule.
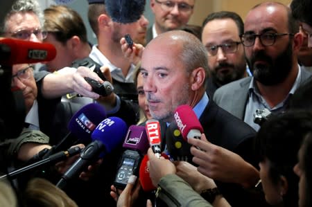
[[[301,67],[301,75],[300,86],[311,78],[311,72]],[[248,88],[251,80],[252,77],[248,77],[225,84],[214,93],[214,102],[216,102],[219,107],[243,120],[248,100]]]

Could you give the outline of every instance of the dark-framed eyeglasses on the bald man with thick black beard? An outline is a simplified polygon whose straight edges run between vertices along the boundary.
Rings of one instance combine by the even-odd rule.
[[[256,38],[259,37],[260,42],[263,46],[271,46],[271,45],[275,44],[277,37],[281,37],[281,36],[285,36],[285,35],[293,36],[293,34],[291,34],[291,33],[280,33],[279,34],[279,33],[267,32],[267,33],[261,33],[259,35],[245,33],[245,34],[241,35],[241,42],[242,42],[243,46],[253,46]]]

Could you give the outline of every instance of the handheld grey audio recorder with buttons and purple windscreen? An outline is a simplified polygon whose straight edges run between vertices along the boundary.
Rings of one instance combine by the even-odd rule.
[[[144,126],[131,125],[123,142],[126,150],[121,155],[114,186],[124,189],[132,174],[139,175],[139,165],[144,154],[147,153],[148,138]]]

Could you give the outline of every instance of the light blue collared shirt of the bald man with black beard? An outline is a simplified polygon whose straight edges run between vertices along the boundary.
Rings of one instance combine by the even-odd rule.
[[[272,113],[279,113],[285,110],[288,104],[289,98],[291,97],[291,95],[293,95],[293,93],[295,93],[295,90],[300,86],[300,84],[302,84],[302,78],[301,78],[302,72],[301,72],[299,65],[298,67],[299,69],[298,69],[297,78],[293,84],[293,87],[291,88],[291,91],[288,92],[288,96],[286,96],[286,98],[283,101],[281,101],[279,104],[277,104],[275,107],[272,107],[272,108],[268,105],[266,100],[261,96],[261,94],[259,93],[257,84],[254,78],[252,78],[249,89],[248,89],[249,98],[248,98],[248,102],[247,102],[246,109],[245,109],[245,117],[244,117],[245,123],[248,123],[248,125],[250,125],[256,131],[258,131],[260,129],[260,126],[257,123],[254,123],[254,113],[256,112],[257,109],[268,109]]]

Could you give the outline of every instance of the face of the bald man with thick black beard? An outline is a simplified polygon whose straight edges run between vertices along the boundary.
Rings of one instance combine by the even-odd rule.
[[[261,6],[248,13],[245,34],[288,33],[286,10],[276,6]],[[245,46],[245,57],[255,80],[263,85],[283,82],[293,66],[293,44],[288,35],[276,37],[275,43],[265,46],[259,37],[253,46]]]

